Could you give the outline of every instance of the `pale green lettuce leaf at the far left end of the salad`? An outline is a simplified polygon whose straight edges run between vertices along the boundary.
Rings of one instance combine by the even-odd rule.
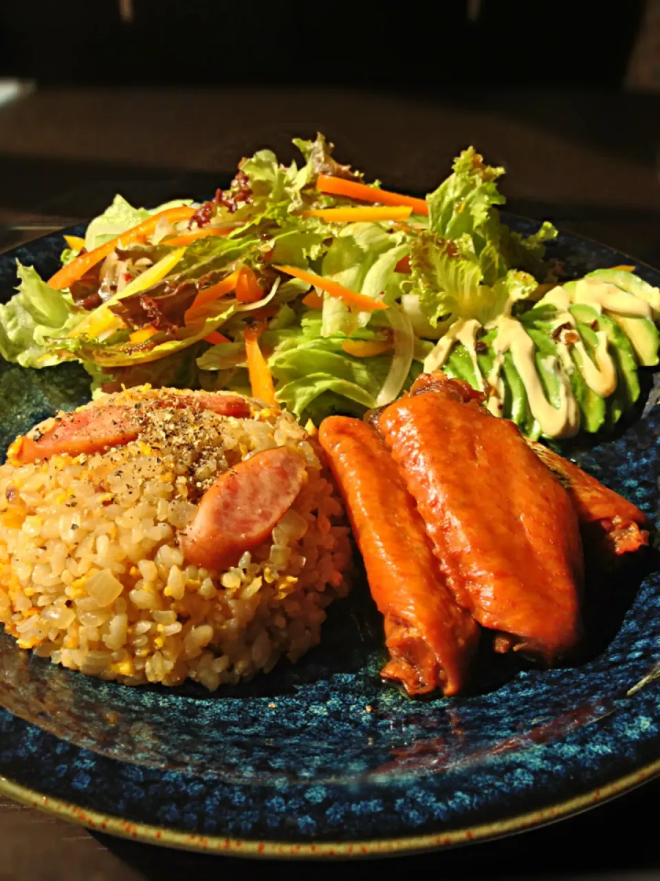
[[[24,367],[46,367],[66,359],[55,340],[75,328],[85,313],[69,294],[43,281],[33,266],[16,265],[19,285],[8,303],[0,304],[0,355]]]

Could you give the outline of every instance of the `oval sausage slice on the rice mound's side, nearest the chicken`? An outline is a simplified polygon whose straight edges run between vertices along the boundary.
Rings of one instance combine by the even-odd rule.
[[[235,566],[266,541],[304,483],[302,455],[289,447],[263,450],[226,471],[204,493],[181,533],[186,559],[205,569]]]

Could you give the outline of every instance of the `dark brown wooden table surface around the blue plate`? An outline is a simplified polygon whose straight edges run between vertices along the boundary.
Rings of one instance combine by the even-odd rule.
[[[660,97],[496,92],[431,100],[343,92],[44,91],[0,108],[0,248],[91,218],[114,192],[203,196],[244,153],[322,130],[388,187],[422,192],[474,144],[501,163],[510,208],[660,265]],[[33,225],[40,225],[39,227]],[[0,879],[660,878],[660,782],[559,824],[458,851],[312,865],[189,855],[92,835],[0,798]]]

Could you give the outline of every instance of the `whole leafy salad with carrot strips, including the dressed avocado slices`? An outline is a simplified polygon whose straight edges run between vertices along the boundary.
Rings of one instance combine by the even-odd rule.
[[[634,267],[560,284],[554,226],[505,226],[503,169],[472,147],[418,199],[365,182],[321,135],[294,143],[300,163],[261,150],[202,204],[115,196],[48,280],[18,263],[0,355],[77,360],[95,393],[231,389],[317,424],[435,369],[532,438],[597,432],[634,403],[660,317],[660,290]]]

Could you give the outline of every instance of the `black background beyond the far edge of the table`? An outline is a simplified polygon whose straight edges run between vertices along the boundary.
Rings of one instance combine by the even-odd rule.
[[[20,0],[0,4],[0,72],[42,85],[293,85],[452,93],[615,88],[637,0]]]

